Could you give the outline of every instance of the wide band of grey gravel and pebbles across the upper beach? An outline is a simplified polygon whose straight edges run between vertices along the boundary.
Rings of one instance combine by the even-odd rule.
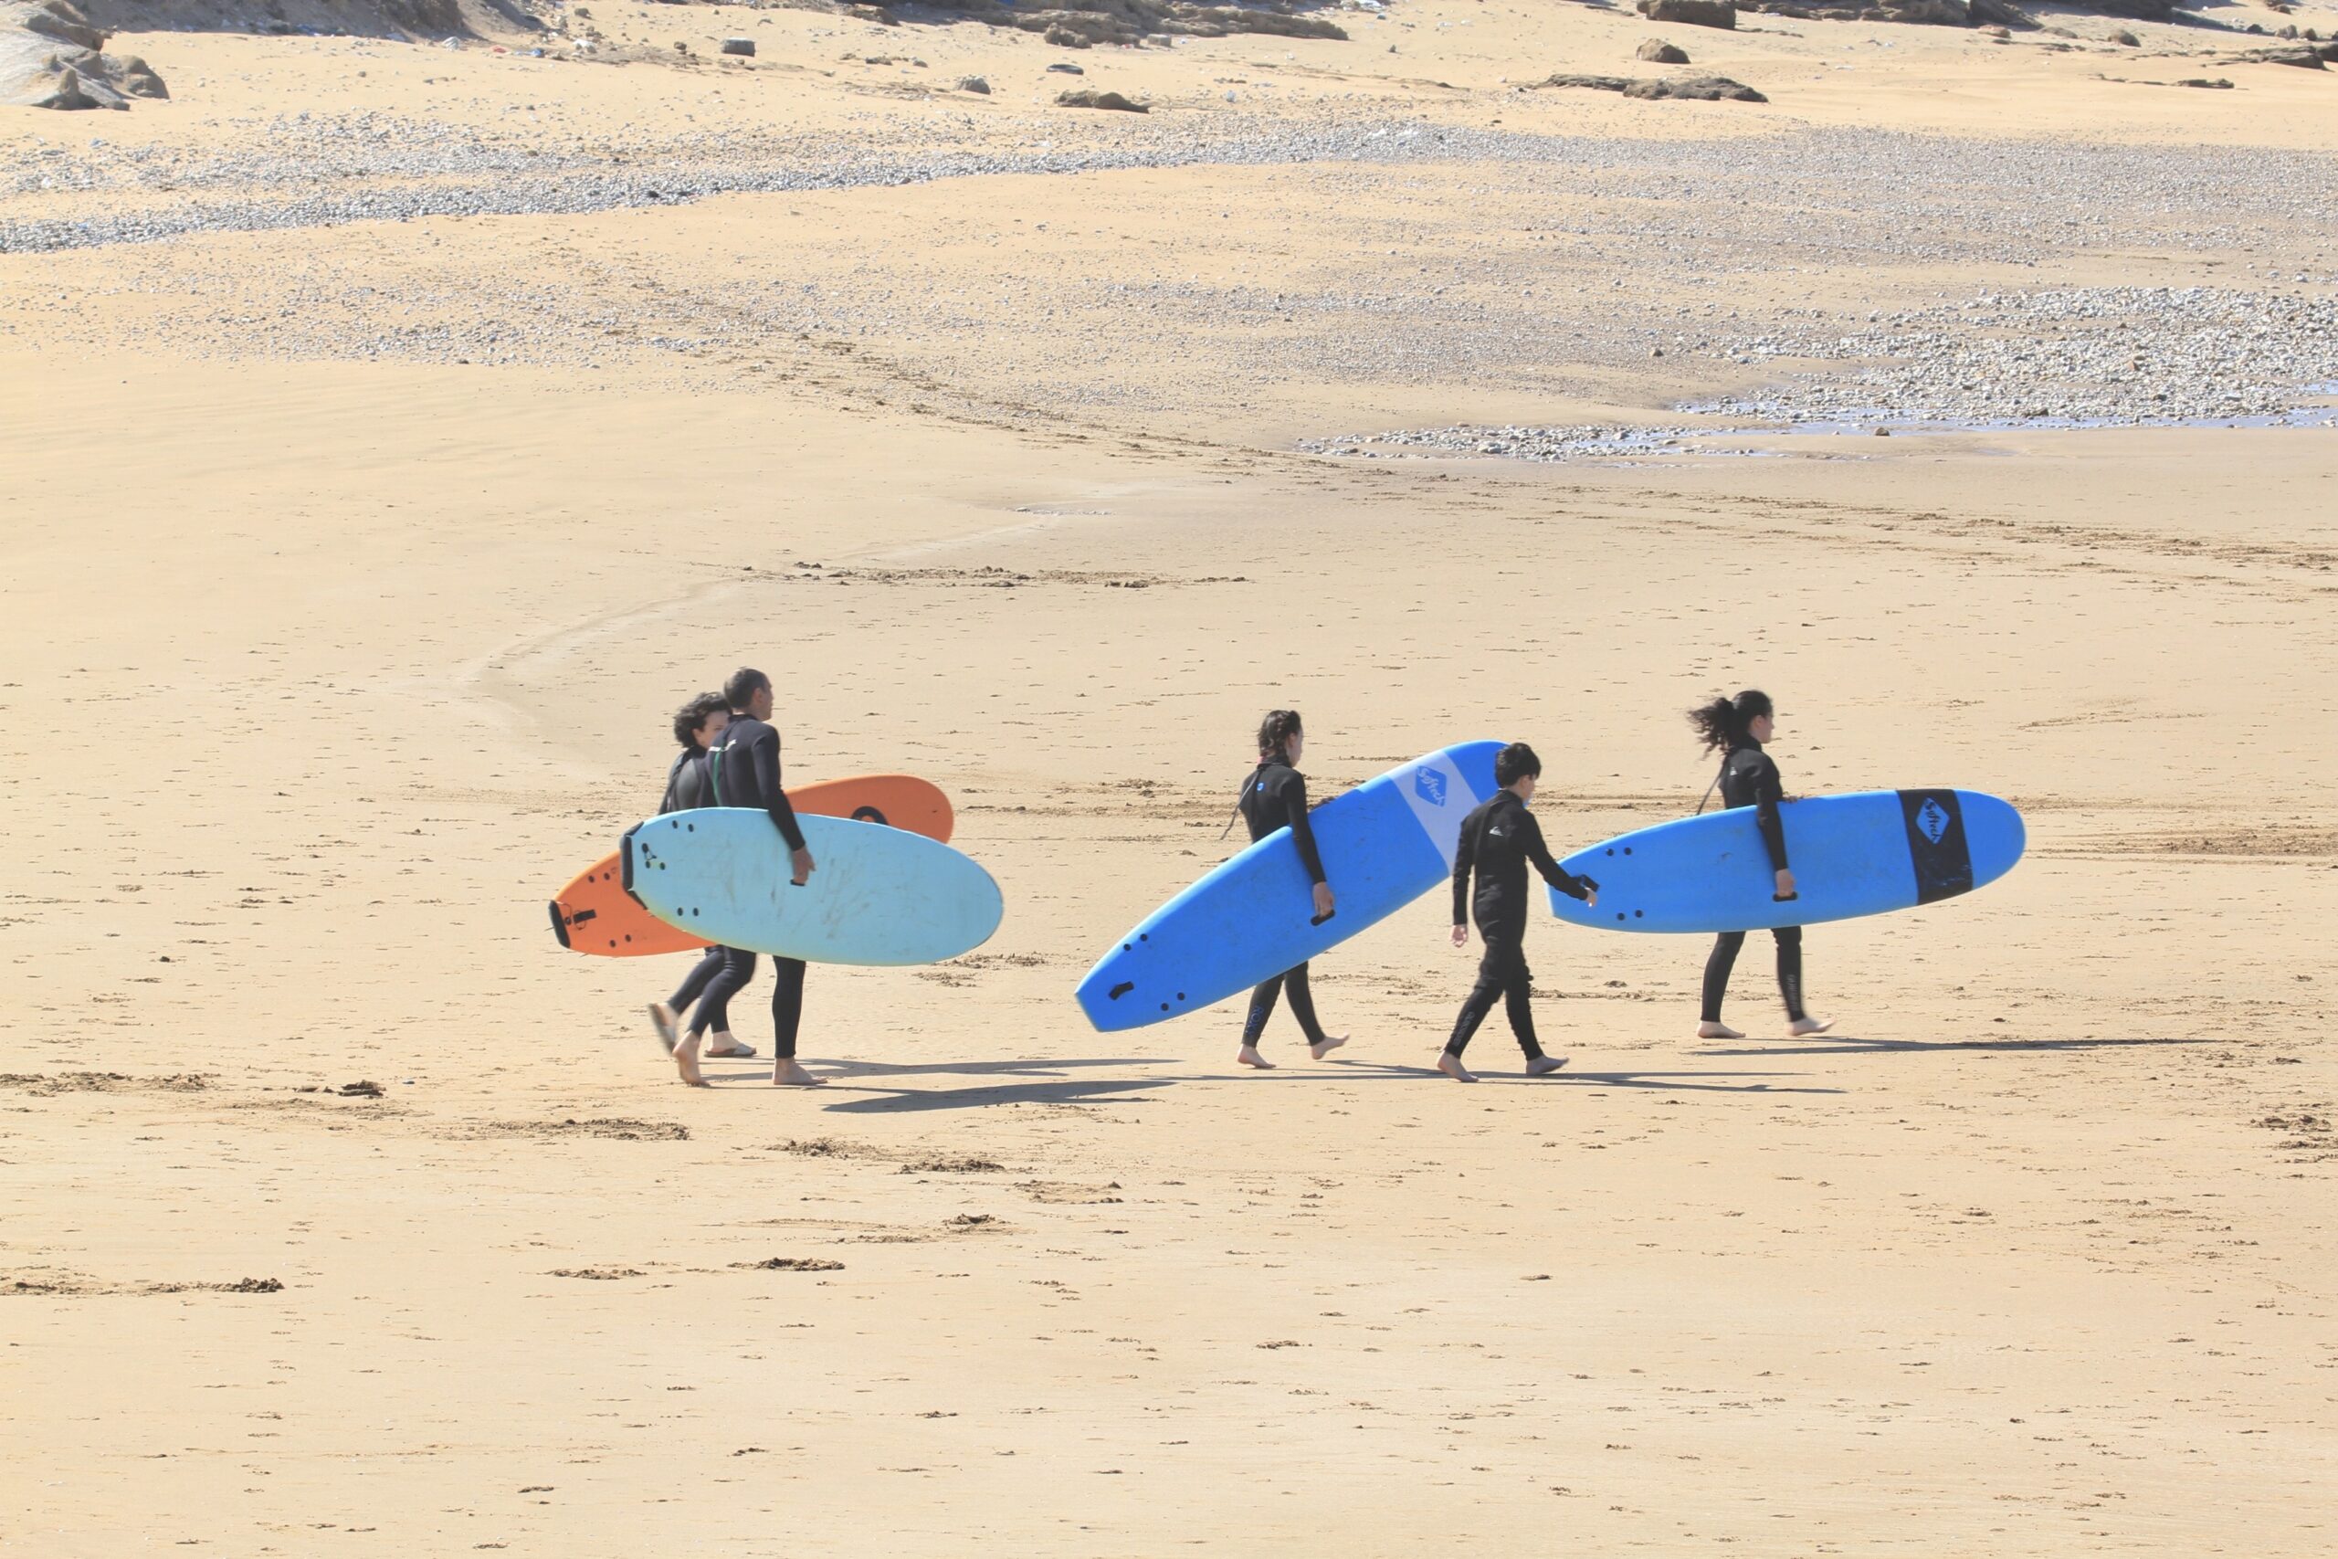
[[[1604,400],[1639,376],[1646,428],[1379,428],[1312,451],[1637,453],[1714,430],[1824,423],[2282,418],[2338,381],[2338,157],[1955,140],[1819,129],[1704,140],[1529,136],[1403,119],[1008,117],[884,110],[853,133],[295,112],[201,147],[44,143],[0,173],[16,264],[143,245],[119,287],[178,299],[175,351],[608,367],[774,367],[774,344],[858,344],[956,409],[1141,418],[1279,383],[1443,386]],[[1281,273],[1204,280],[1143,252],[1001,276],[870,252],[811,280],[369,276],[327,255],[253,273],[217,234],[671,208],[1003,175],[1281,171],[1319,222]],[[1417,201],[1407,192],[1440,199]],[[1377,215],[1372,215],[1377,213]],[[1253,210],[1253,215],[1258,215]],[[1293,229],[1295,231],[1295,229]],[[2088,285],[2151,252],[2202,285]],[[339,266],[339,269],[337,269]],[[217,269],[217,273],[213,273]],[[58,276],[68,276],[61,271]],[[2207,283],[2214,285],[2207,285]],[[1001,339],[996,306],[1047,330]],[[1901,306],[1870,309],[1868,299]],[[68,292],[0,290],[0,332],[75,320]],[[1188,351],[1199,339],[1209,353]],[[1174,379],[1209,358],[1223,383]],[[1097,374],[1097,360],[1132,372]],[[1665,393],[1665,386],[1679,386]],[[1714,386],[1730,386],[1716,393]]]

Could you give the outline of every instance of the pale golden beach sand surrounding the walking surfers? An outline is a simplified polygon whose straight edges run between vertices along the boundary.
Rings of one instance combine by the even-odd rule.
[[[636,126],[652,171],[676,133],[1190,150],[1234,110],[1251,150],[1573,140],[0,255],[0,1552],[2338,1547],[2338,430],[1295,451],[1847,372],[1730,344],[1812,311],[2329,299],[2294,199],[2329,75],[2186,28],[1393,0],[1349,44],[1066,54],[594,9],[765,42],[718,75],[124,37],[171,103],[9,110],[0,157],[210,159],[250,213],[395,182],[362,136],[302,178],[297,112],[547,157]],[[1653,70],[1644,35],[1772,103],[1499,79]],[[839,58],[879,49],[926,68]],[[1057,58],[1160,108],[1036,105]],[[994,96],[926,93],[963,72]],[[1730,138],[1814,189],[1922,175],[1754,210],[1630,173],[1721,178]],[[2100,178],[2015,187],[2055,159]],[[0,224],[187,199],[105,178],[19,178]],[[1714,346],[1658,362],[1655,327]],[[790,774],[931,776],[1008,893],[970,958],[814,970],[816,1094],[680,1089],[641,1019],[680,961],[545,926],[739,661],[783,680]],[[1244,1075],[1232,1010],[1099,1038],[1068,998],[1230,848],[1260,708],[1307,713],[1319,795],[1529,739],[1580,844],[1693,806],[1679,711],[1746,683],[1796,788],[2032,825],[1985,893],[1810,933],[1821,1040],[1770,1038],[1761,942],[1758,1038],[1718,1045],[1702,944],[1543,923],[1569,1070],[1527,1085],[1496,1024],[1457,1089],[1438,902],[1319,961],[1356,1035],[1321,1066],[1286,1017]]]

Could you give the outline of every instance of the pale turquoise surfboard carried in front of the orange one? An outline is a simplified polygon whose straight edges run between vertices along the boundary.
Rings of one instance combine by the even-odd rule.
[[[722,947],[811,963],[940,963],[989,942],[998,884],[959,851],[884,823],[797,813],[811,881],[753,806],[669,811],[624,834],[641,907]]]

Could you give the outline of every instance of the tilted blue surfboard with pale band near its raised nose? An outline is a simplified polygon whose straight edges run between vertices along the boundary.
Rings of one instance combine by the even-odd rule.
[[[1136,923],[1080,982],[1104,1033],[1160,1024],[1281,975],[1452,876],[1461,818],[1494,795],[1499,741],[1464,741],[1337,795],[1312,813],[1333,919],[1279,827]]]

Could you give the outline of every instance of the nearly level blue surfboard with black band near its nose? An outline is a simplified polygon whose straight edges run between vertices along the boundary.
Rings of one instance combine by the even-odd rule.
[[[1971,893],[2013,869],[2027,834],[2011,802],[1978,790],[1861,790],[1786,802],[1777,876],[1751,806],[1658,823],[1576,851],[1559,865],[1599,881],[1592,909],[1562,893],[1562,921],[1599,930],[1770,930],[1912,909]]]

